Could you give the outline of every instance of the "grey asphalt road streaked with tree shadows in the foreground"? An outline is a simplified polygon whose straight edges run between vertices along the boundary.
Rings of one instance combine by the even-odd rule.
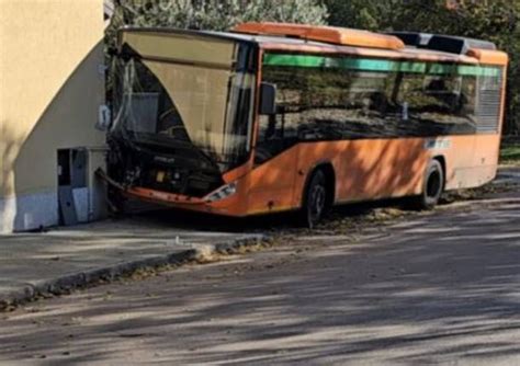
[[[0,362],[520,365],[520,196],[0,313]]]

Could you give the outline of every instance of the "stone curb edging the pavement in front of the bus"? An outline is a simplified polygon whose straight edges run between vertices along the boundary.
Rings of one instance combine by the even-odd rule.
[[[183,265],[202,261],[213,255],[233,255],[240,251],[269,241],[268,236],[248,236],[200,248],[180,250],[178,252],[139,259],[113,265],[81,271],[75,274],[59,276],[48,281],[20,284],[20,288],[7,294],[0,294],[0,312],[11,306],[29,302],[39,297],[68,294],[76,288],[86,287],[100,281],[113,281],[131,275],[139,270],[154,270],[168,265]]]

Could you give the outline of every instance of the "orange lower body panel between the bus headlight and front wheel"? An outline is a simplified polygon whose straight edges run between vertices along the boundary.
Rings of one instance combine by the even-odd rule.
[[[294,208],[293,186],[297,147],[255,168],[249,176],[248,215]]]

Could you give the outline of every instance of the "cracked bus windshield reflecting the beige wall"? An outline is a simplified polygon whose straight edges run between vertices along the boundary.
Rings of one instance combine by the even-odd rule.
[[[174,153],[188,147],[221,172],[250,150],[255,77],[230,69],[144,58],[118,60],[113,130]]]

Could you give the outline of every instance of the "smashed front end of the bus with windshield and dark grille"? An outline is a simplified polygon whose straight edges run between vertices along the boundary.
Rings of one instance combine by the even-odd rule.
[[[211,33],[121,31],[111,181],[133,197],[203,210],[234,195],[226,174],[251,155],[256,55]]]

